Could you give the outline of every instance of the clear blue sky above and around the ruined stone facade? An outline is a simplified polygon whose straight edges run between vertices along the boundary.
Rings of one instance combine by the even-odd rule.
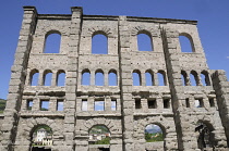
[[[209,68],[229,75],[228,0],[4,0],[0,4],[0,98],[8,93],[23,5],[34,5],[40,14],[70,14],[71,7],[83,7],[84,14],[197,20]]]

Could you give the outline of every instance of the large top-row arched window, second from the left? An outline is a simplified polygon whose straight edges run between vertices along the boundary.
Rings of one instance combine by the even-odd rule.
[[[108,54],[108,38],[103,32],[93,35],[92,53]]]

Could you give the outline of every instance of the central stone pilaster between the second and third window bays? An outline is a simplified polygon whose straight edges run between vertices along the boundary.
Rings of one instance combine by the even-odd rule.
[[[119,17],[119,59],[120,59],[120,81],[121,81],[121,109],[123,126],[123,150],[134,151],[133,143],[133,100],[132,100],[132,77],[131,77],[131,54],[130,54],[130,32],[126,16]]]

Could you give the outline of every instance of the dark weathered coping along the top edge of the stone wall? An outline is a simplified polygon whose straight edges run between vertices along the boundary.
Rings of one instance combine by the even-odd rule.
[[[24,10],[31,10],[36,12],[35,7],[23,7]],[[81,10],[82,8],[74,7],[73,9]],[[71,14],[38,14],[38,20],[71,20]],[[118,15],[83,15],[83,20],[94,20],[94,21],[118,21]],[[150,23],[176,23],[176,24],[193,24],[196,25],[197,21],[190,20],[177,20],[177,18],[158,18],[158,17],[140,17],[140,16],[126,16],[129,22],[150,22]]]

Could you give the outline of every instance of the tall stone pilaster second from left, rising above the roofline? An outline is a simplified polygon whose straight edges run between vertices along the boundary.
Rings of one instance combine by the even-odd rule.
[[[74,136],[75,136],[75,110],[76,110],[76,86],[77,86],[77,73],[79,65],[79,45],[81,35],[81,22],[82,22],[82,8],[72,8],[72,18],[70,27],[70,40],[68,52],[68,68],[67,68],[67,81],[65,81],[65,105],[64,105],[64,138],[65,138],[65,151],[74,150]]]

